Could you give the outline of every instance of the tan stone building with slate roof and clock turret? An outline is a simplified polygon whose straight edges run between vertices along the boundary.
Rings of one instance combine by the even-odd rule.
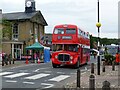
[[[40,42],[48,25],[41,11],[36,11],[34,0],[25,1],[24,12],[4,13],[3,19],[11,23],[12,34],[11,38],[3,37],[2,51],[13,58],[21,58],[26,46]]]

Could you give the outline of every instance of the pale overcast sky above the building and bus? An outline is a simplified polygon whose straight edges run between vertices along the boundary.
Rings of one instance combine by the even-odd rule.
[[[99,0],[100,37],[118,38],[118,2],[120,0]],[[75,24],[93,36],[98,36],[97,0],[35,0],[48,23],[45,33],[52,33],[55,25]],[[25,0],[0,0],[3,13],[25,11]]]

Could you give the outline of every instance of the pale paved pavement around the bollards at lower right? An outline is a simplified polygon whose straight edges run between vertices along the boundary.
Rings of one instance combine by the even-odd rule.
[[[105,66],[105,72],[102,72],[102,66],[101,66],[101,72],[100,75],[97,75],[97,65],[95,64],[95,70],[94,74],[91,74],[91,70],[88,69],[86,72],[81,73],[80,77],[80,87],[81,88],[89,88],[89,77],[90,75],[95,76],[95,88],[102,88],[103,82],[108,81],[110,82],[110,88],[114,90],[120,90],[120,77],[118,77],[118,74],[120,76],[120,65],[115,66],[115,71],[112,71],[112,66]],[[119,73],[118,73],[119,72]],[[76,88],[76,80],[67,84],[65,88]],[[107,89],[106,89],[107,90]]]

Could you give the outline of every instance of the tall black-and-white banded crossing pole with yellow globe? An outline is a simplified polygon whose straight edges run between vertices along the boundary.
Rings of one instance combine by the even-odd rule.
[[[99,0],[98,0],[98,23],[96,23],[96,26],[98,28],[98,58],[97,58],[97,74],[100,75],[100,27],[101,23],[99,20]]]

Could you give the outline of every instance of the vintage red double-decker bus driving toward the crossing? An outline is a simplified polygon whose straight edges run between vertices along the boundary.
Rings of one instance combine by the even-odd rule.
[[[76,25],[56,25],[52,35],[52,66],[72,65],[78,68],[90,60],[89,33]]]

